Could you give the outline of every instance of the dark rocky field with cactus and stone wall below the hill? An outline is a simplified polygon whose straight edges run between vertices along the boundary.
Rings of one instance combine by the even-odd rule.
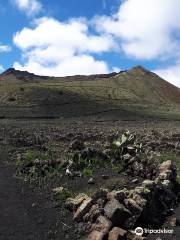
[[[29,214],[35,214],[39,226],[39,233],[28,233],[29,239],[137,239],[136,227],[161,229],[163,224],[175,229],[175,238],[161,234],[163,239],[178,239],[178,128],[142,128],[141,123],[134,128],[128,123],[132,132],[125,131],[123,123],[70,123],[43,125],[37,131],[36,124],[1,128],[1,146],[9,153],[5,165],[13,166],[24,189],[15,194],[24,194],[29,206],[28,220],[23,221],[31,222]],[[21,226],[26,217],[19,218]],[[2,239],[16,239],[2,232]],[[23,233],[17,239],[23,239]]]

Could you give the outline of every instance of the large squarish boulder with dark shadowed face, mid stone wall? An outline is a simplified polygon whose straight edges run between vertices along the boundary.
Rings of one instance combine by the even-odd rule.
[[[126,219],[131,216],[131,212],[116,199],[112,199],[106,203],[104,213],[117,226],[123,225]]]

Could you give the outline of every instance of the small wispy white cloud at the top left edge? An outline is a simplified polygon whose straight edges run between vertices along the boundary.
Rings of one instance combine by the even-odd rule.
[[[15,5],[28,16],[37,14],[42,9],[42,5],[37,0],[15,0]]]

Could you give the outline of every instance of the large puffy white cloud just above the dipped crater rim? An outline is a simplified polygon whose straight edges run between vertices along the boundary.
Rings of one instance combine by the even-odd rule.
[[[34,28],[17,32],[13,41],[25,61],[16,62],[15,68],[54,76],[109,72],[107,64],[93,54],[116,47],[110,36],[90,34],[84,19],[60,22],[41,18],[35,21]]]

